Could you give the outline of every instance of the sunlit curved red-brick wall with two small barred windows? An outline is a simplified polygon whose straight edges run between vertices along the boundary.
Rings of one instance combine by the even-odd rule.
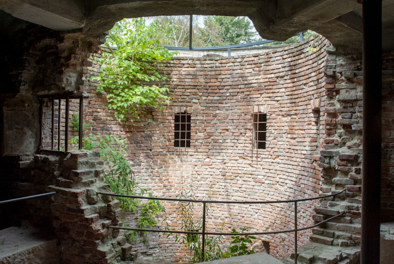
[[[93,132],[113,133],[126,138],[142,186],[156,196],[179,195],[182,183],[196,187],[196,196],[212,199],[282,200],[310,198],[319,194],[321,178],[318,138],[320,112],[313,110],[324,94],[323,69],[328,41],[316,37],[266,53],[227,59],[173,58],[163,72],[165,85],[174,98],[164,110],[152,109],[140,119],[129,116],[118,121],[106,108],[106,96],[90,83],[85,105],[86,121]],[[315,49],[308,49],[312,47]],[[95,74],[99,69],[93,65]],[[251,152],[250,105],[269,105],[266,150]],[[316,104],[316,103],[315,103]],[[173,147],[174,111],[192,111],[191,148],[176,152]],[[183,111],[183,108],[180,110]],[[315,201],[317,202],[317,200]],[[174,203],[165,203],[168,221],[177,225]],[[314,202],[299,203],[300,227],[312,225]],[[197,207],[197,215],[202,215]],[[196,216],[197,217],[197,216]],[[293,204],[213,205],[207,216],[208,230],[251,227],[254,231],[292,229]],[[298,245],[309,232],[298,233]],[[133,246],[140,255],[181,260],[185,250],[174,238],[150,234],[150,242]],[[270,253],[282,258],[294,248],[294,234],[263,236]],[[260,245],[261,240],[257,243]]]

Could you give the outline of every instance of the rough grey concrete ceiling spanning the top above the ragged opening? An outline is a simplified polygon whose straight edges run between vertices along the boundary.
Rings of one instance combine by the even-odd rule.
[[[383,49],[394,49],[394,0],[383,0]],[[286,40],[306,30],[343,53],[361,52],[357,0],[0,0],[12,16],[56,31],[100,39],[123,18],[159,15],[248,16],[264,39]]]

